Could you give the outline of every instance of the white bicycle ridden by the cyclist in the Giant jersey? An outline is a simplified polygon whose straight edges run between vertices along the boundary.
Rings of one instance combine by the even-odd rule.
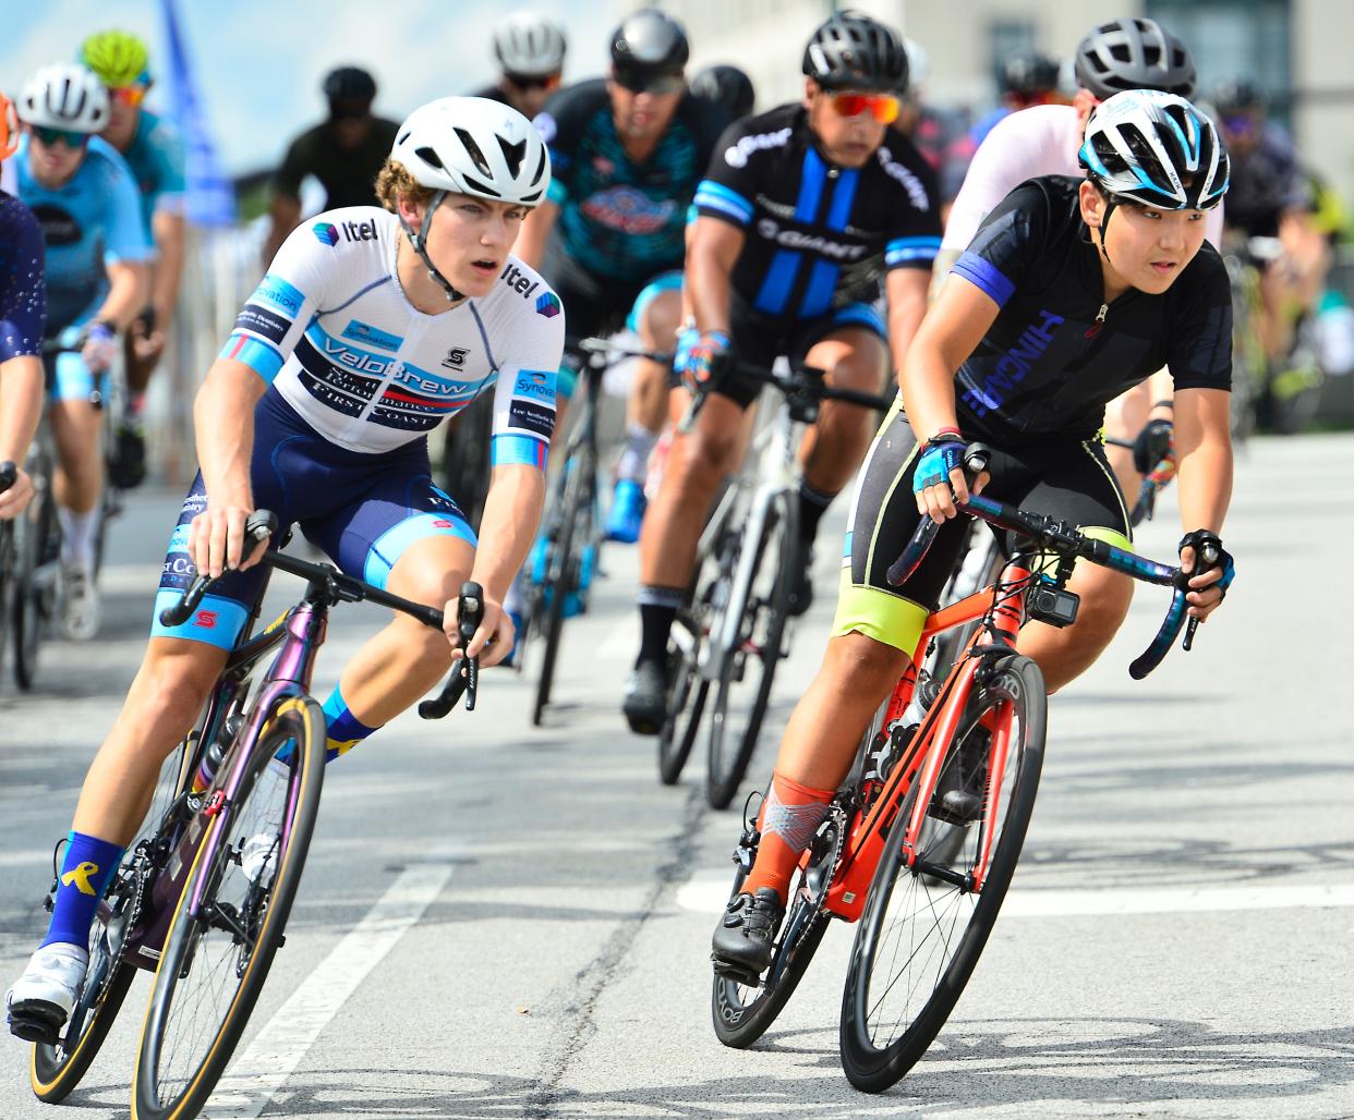
[[[669,640],[674,672],[669,716],[658,734],[658,775],[670,786],[681,776],[709,705],[705,799],[714,809],[727,808],[738,793],[761,734],[776,666],[788,656],[803,477],[796,453],[804,425],[818,419],[823,400],[879,411],[892,406],[876,394],[827,386],[825,371],[807,365],[788,373],[747,363],[734,368],[781,399],[753,440],[749,460],[756,468],[726,487],[696,545],[692,594],[677,611]],[[704,398],[693,398],[681,425],[691,425]]]

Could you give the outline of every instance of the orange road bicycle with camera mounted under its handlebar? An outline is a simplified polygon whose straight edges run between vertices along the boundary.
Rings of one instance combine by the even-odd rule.
[[[980,445],[969,448],[974,475],[987,456]],[[1018,533],[1022,544],[992,586],[927,620],[907,671],[861,740],[850,776],[800,863],[765,978],[716,963],[711,993],[719,1040],[751,1046],[793,994],[827,923],[858,923],[839,1044],[848,1079],[871,1093],[906,1075],[944,1027],[1016,871],[1047,725],[1043,675],[1014,648],[1021,625],[1028,618],[1055,626],[1075,621],[1078,597],[1066,584],[1078,559],[1173,588],[1156,637],[1129,667],[1133,679],[1160,664],[1186,618],[1189,576],[1178,567],[982,495],[959,509]],[[915,569],[937,528],[922,521],[890,568],[891,583]],[[1049,569],[1044,557],[1056,564]],[[1217,556],[1201,561],[1212,565]],[[944,679],[918,670],[938,634],[972,621],[980,628]],[[1190,620],[1186,649],[1196,626]],[[918,711],[923,714],[917,722],[906,722]],[[963,812],[949,798],[955,790],[978,793],[976,809]],[[734,852],[735,894],[758,840],[756,824],[746,821]]]

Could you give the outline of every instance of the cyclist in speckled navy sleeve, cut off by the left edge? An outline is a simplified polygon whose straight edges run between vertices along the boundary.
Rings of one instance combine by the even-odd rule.
[[[18,146],[14,104],[0,93],[0,160],[8,160]],[[0,463],[15,465],[15,480],[0,491],[0,521],[18,517],[32,499],[23,460],[42,415],[42,335],[47,323],[42,256],[38,219],[0,191]]]

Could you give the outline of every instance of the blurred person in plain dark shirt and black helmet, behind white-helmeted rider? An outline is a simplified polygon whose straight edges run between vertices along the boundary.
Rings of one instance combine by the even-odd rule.
[[[330,70],[324,83],[329,118],[297,137],[272,180],[272,230],[264,261],[276,256],[301,222],[301,183],[314,176],[325,188],[322,210],[376,206],[376,173],[395,142],[394,120],[372,116],[376,80],[359,66]]]

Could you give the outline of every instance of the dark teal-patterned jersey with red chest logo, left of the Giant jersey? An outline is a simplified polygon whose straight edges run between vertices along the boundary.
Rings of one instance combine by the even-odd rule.
[[[550,200],[559,206],[555,231],[566,257],[626,281],[681,268],[686,208],[728,123],[722,106],[686,93],[639,164],[626,154],[601,78],[561,89],[535,123],[550,145]]]

